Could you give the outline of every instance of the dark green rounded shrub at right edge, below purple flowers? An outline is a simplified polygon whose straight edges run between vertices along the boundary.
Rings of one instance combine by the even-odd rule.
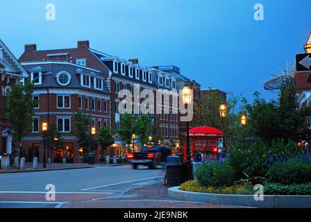
[[[269,167],[267,179],[282,185],[311,182],[311,163],[296,160],[276,162]]]

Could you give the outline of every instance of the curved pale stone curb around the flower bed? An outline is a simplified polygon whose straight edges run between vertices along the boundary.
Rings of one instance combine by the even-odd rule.
[[[181,191],[179,187],[168,189],[171,198],[217,205],[233,205],[260,208],[311,208],[311,196],[264,195],[263,201],[256,201],[253,195],[206,194]]]

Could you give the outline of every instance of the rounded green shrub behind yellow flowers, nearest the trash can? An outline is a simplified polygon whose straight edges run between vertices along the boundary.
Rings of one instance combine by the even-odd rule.
[[[210,162],[201,164],[195,174],[200,185],[221,187],[233,185],[235,172],[228,162]]]

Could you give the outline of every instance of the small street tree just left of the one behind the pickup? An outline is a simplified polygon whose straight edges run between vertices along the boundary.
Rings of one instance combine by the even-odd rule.
[[[119,139],[121,139],[126,144],[132,143],[132,135],[134,132],[134,117],[133,114],[121,114],[120,117],[120,129],[117,130]]]

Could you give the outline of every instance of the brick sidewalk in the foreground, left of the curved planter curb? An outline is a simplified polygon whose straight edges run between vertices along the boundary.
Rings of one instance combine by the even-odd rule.
[[[62,208],[239,208],[212,203],[187,202],[167,195],[162,183],[112,194],[95,200],[67,203]]]

